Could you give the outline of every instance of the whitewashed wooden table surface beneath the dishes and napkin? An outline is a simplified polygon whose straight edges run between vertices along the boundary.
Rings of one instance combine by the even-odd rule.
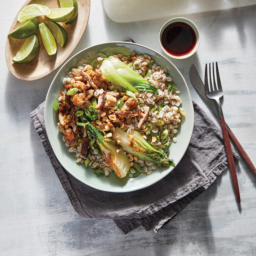
[[[241,207],[225,171],[157,234],[139,227],[124,235],[112,220],[78,216],[29,116],[44,101],[57,70],[24,82],[5,63],[6,35],[22,4],[1,0],[0,10],[0,255],[256,255],[256,177],[241,158],[236,165]],[[218,61],[226,121],[256,165],[256,5],[185,17],[198,26],[201,44],[194,56],[173,63],[192,99],[213,117],[192,88],[188,71],[194,63],[203,77],[205,63]],[[127,37],[162,53],[158,32],[166,20],[115,23],[101,0],[92,0],[88,26],[73,53]]]

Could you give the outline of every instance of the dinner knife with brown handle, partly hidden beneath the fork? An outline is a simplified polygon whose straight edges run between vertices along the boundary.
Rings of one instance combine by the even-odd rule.
[[[194,64],[192,64],[190,66],[190,69],[189,69],[189,79],[190,79],[190,82],[193,85],[193,87],[198,92],[198,94],[202,97],[202,99],[210,107],[212,112],[220,120],[219,115],[218,115],[218,110],[217,110],[213,100],[208,99],[206,94],[205,94],[204,83],[203,83],[201,77],[199,76],[199,74],[198,74]],[[239,143],[239,141],[235,137],[234,133],[231,131],[231,129],[227,125],[227,123],[226,123],[226,126],[227,126],[229,137],[232,139],[232,141],[233,141],[234,145],[236,146],[238,152],[240,153],[240,155],[243,157],[244,161],[248,164],[248,166],[250,167],[250,169],[252,170],[252,172],[256,176],[256,168],[254,167],[251,159],[249,158],[249,156],[247,155],[247,153],[245,152],[245,150],[243,149],[243,147],[241,146],[241,144]]]

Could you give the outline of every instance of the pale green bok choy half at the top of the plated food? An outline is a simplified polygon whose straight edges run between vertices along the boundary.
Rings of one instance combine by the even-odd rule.
[[[158,90],[128,65],[114,56],[103,60],[100,66],[102,75],[113,84],[117,84],[132,92],[148,91],[158,95]]]

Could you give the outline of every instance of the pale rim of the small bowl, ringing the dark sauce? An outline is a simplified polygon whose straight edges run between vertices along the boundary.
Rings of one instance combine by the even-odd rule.
[[[179,22],[179,21],[180,21],[180,22],[184,22],[184,23],[190,25],[190,26],[194,29],[194,31],[195,31],[195,33],[196,33],[196,45],[195,45],[194,49],[193,49],[190,53],[185,54],[185,55],[182,55],[182,56],[174,56],[174,55],[170,54],[169,52],[167,52],[167,51],[165,50],[165,48],[163,47],[161,38],[162,38],[162,34],[163,34],[164,29],[165,29],[168,25],[170,25],[170,24],[172,24],[172,23],[174,23],[174,22]],[[164,25],[161,27],[161,29],[160,29],[160,31],[159,31],[159,37],[158,37],[158,39],[159,39],[159,44],[160,44],[162,50],[163,50],[168,56],[170,56],[170,57],[172,57],[172,58],[174,58],[174,59],[185,59],[185,58],[188,58],[188,57],[192,56],[192,55],[197,51],[197,49],[198,49],[198,47],[199,47],[199,44],[200,44],[200,33],[199,33],[199,29],[197,28],[197,26],[196,26],[196,24],[195,24],[194,22],[192,22],[191,20],[186,19],[186,18],[177,17],[177,18],[170,19],[170,20],[168,20],[168,21],[166,21],[166,22],[164,23]]]

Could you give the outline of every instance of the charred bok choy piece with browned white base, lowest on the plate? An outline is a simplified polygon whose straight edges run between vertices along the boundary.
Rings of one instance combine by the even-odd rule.
[[[88,137],[93,137],[99,144],[100,150],[108,163],[119,178],[126,176],[130,169],[130,161],[123,150],[116,147],[110,139],[104,139],[98,129],[89,122],[85,124]]]

